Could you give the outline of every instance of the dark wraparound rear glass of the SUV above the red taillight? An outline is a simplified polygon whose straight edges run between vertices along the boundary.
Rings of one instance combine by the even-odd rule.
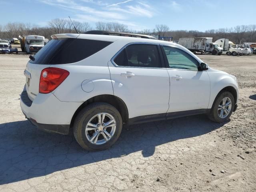
[[[83,60],[112,42],[76,38],[58,38],[48,42],[37,54],[34,64],[67,64]]]

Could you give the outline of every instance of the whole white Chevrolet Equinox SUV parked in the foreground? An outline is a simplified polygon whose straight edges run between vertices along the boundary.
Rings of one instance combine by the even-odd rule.
[[[56,34],[26,65],[20,106],[42,130],[104,150],[123,124],[208,114],[226,121],[238,102],[236,78],[186,48],[161,40]]]

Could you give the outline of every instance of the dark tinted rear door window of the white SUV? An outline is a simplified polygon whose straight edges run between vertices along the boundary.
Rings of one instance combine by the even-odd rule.
[[[114,59],[118,66],[160,68],[161,61],[157,45],[132,44]]]

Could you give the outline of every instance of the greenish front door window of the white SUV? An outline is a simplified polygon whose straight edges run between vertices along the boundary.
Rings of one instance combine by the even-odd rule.
[[[164,46],[170,68],[197,70],[198,62],[188,53],[178,48]]]

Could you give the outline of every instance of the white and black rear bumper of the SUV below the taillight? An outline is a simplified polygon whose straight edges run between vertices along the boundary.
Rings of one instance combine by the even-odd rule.
[[[68,134],[70,123],[80,102],[61,102],[52,93],[38,94],[33,102],[26,87],[20,95],[20,107],[25,117],[41,130]]]

